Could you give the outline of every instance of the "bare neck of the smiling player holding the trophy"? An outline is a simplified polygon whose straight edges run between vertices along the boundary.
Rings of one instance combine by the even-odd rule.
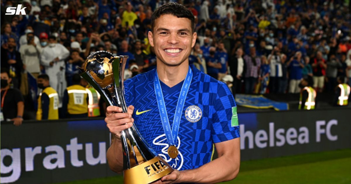
[[[189,61],[184,61],[178,66],[168,66],[157,59],[157,74],[160,81],[168,87],[173,87],[183,81],[188,73]]]

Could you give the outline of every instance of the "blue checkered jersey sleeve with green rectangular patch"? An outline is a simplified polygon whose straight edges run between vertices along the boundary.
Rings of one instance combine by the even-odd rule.
[[[223,142],[240,137],[237,105],[231,91],[223,82],[218,84],[213,107],[211,130],[213,142]]]

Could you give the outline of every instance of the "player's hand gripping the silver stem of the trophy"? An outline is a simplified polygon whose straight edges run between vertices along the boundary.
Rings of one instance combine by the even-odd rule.
[[[133,111],[134,106],[129,106],[127,113],[122,113],[122,108],[117,106],[107,107],[105,122],[110,132],[115,134],[118,139],[121,138],[121,132],[123,130],[133,126]]]

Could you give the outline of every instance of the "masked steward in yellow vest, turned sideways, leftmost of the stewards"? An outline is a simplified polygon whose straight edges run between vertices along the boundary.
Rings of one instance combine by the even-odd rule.
[[[42,89],[38,97],[37,120],[59,119],[59,95],[50,87],[49,76],[38,76],[38,88]]]

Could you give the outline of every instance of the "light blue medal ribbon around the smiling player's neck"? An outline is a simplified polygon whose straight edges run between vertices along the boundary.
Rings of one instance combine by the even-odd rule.
[[[165,131],[166,138],[167,138],[169,145],[176,145],[178,131],[179,131],[179,124],[180,124],[180,119],[181,119],[181,113],[183,112],[186,95],[188,94],[188,90],[190,87],[192,77],[193,77],[193,72],[189,66],[188,73],[186,74],[183,86],[181,87],[181,90],[180,90],[180,94],[179,94],[179,98],[178,98],[178,102],[177,102],[177,107],[176,107],[176,112],[174,113],[173,125],[172,125],[172,129],[171,129],[170,121],[169,121],[168,115],[167,115],[165,100],[164,100],[162,89],[161,89],[160,80],[159,80],[158,74],[157,74],[157,70],[155,72],[154,87],[155,87],[157,105],[158,105],[158,109],[160,111],[163,130]]]

